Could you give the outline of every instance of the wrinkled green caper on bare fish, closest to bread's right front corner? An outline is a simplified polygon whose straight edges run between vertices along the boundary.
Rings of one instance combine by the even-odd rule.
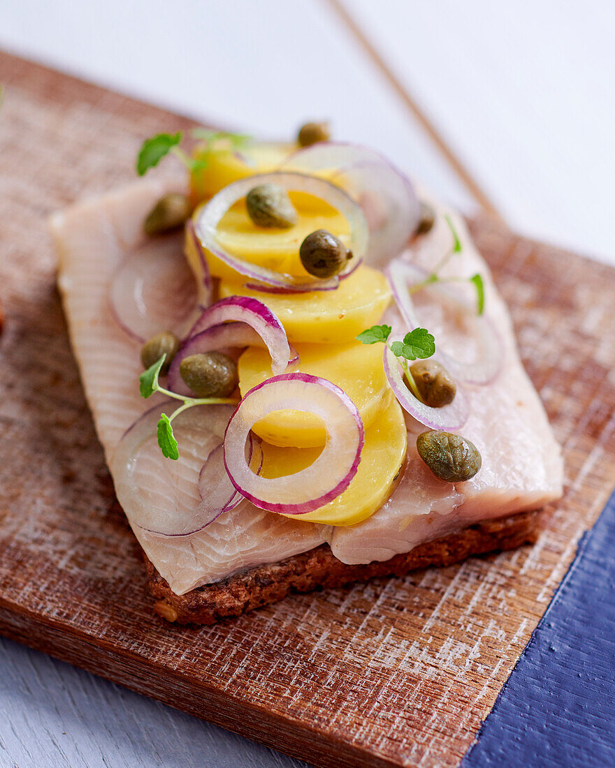
[[[417,451],[431,472],[446,482],[473,478],[482,462],[476,445],[452,432],[421,432]]]

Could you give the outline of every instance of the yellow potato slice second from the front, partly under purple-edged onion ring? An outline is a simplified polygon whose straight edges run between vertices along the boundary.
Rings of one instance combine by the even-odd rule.
[[[381,344],[298,344],[297,352],[301,362],[293,370],[337,384],[359,409],[364,425],[371,424],[386,407],[391,390],[382,367]],[[243,397],[249,389],[271,378],[267,349],[246,349],[239,358],[238,372]],[[274,411],[252,429],[272,445],[306,448],[324,445],[327,439],[321,420],[303,411]]]

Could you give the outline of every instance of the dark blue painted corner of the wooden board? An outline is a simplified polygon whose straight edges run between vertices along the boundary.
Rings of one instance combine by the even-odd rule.
[[[615,766],[615,493],[460,768]]]

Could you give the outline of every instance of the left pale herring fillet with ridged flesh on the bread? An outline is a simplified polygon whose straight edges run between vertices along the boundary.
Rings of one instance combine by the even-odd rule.
[[[171,188],[181,189],[181,185]],[[144,236],[141,223],[169,184],[142,180],[52,217],[58,249],[58,286],[71,345],[107,463],[125,430],[154,404],[139,396],[140,345],[118,326],[108,302],[118,264]],[[178,236],[178,258],[183,259]],[[159,450],[139,467],[144,492],[169,510],[198,499],[198,473],[188,450],[177,462]],[[119,502],[131,520],[130,498]],[[148,558],[176,594],[218,581],[234,571],[288,558],[324,542],[323,526],[298,523],[249,502],[189,537],[162,538],[133,528]]]

